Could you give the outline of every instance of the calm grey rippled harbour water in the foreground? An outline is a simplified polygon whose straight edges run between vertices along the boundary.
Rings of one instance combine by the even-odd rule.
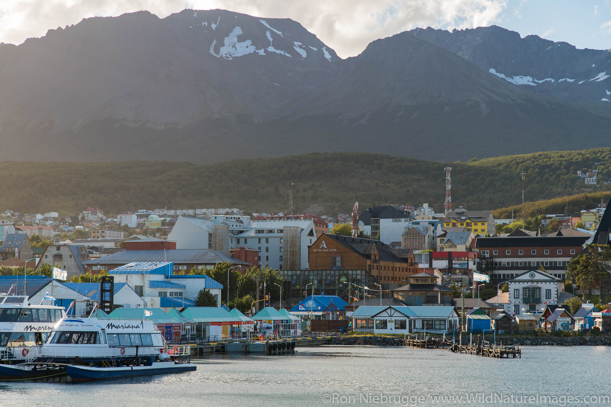
[[[611,395],[589,380],[611,373],[611,347],[524,347],[522,359],[490,359],[405,347],[297,348],[290,356],[213,355],[196,372],[93,383],[0,382],[0,406],[400,406],[569,405],[567,397]],[[471,399],[485,392],[493,400]],[[524,395],[540,399],[524,400]],[[329,395],[327,395],[329,394]],[[362,395],[361,395],[362,394]],[[367,398],[373,395],[394,397]],[[513,395],[516,402],[511,403]],[[541,395],[560,397],[542,400]],[[420,400],[417,399],[420,397]],[[481,397],[481,396],[478,396]],[[522,397],[522,398],[520,398]],[[565,397],[565,398],[562,398]],[[505,400],[500,402],[499,400]],[[563,403],[564,400],[564,403]]]

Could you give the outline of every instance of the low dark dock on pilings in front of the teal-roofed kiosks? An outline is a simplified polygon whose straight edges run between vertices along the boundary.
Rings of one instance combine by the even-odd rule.
[[[283,354],[295,351],[300,346],[326,345],[331,342],[331,336],[295,337],[276,340],[223,340],[204,344],[191,344],[191,356],[201,356],[206,353],[262,353]]]

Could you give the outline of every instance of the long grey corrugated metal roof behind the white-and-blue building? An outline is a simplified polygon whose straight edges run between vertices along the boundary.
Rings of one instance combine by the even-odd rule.
[[[133,262],[174,262],[190,264],[213,264],[230,262],[250,265],[247,262],[230,258],[211,249],[174,249],[174,250],[125,250],[109,254],[99,259],[83,262],[87,265],[128,264]]]

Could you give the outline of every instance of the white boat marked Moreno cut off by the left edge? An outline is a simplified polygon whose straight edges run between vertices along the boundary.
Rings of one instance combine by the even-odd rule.
[[[34,363],[38,347],[64,314],[63,307],[32,305],[26,295],[0,295],[0,380],[64,374],[60,366]]]

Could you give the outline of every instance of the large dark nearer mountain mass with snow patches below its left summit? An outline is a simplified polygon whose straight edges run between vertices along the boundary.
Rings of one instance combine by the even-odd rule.
[[[376,40],[343,60],[288,19],[226,10],[88,18],[0,45],[0,159],[368,151],[466,160],[608,145],[610,117],[420,37]]]

